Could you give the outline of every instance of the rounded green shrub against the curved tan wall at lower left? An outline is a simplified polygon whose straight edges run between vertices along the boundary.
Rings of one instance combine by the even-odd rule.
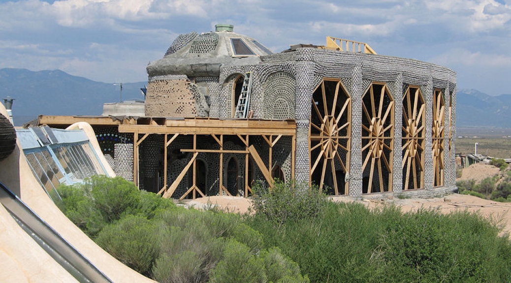
[[[96,242],[125,265],[148,276],[159,252],[157,227],[143,216],[128,215],[105,226]]]

